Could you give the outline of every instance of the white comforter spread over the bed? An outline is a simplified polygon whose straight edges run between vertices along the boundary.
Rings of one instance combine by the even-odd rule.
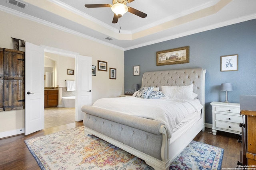
[[[200,112],[202,105],[198,99],[142,99],[135,97],[102,98],[93,106],[129,115],[161,121],[167,128],[168,138],[174,127],[186,116]]]

